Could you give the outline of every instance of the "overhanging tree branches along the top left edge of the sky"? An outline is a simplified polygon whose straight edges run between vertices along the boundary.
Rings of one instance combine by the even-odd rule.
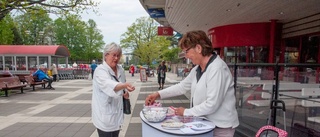
[[[12,10],[25,12],[44,9],[48,13],[64,15],[67,12],[82,13],[87,9],[96,12],[94,8],[98,4],[94,0],[0,0],[0,20]]]

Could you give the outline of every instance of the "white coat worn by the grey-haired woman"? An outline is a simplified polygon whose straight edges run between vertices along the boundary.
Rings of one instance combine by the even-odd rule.
[[[124,83],[125,73],[119,65],[117,72],[118,80]],[[124,119],[123,90],[113,90],[119,82],[112,75],[115,76],[113,70],[103,62],[96,68],[92,83],[92,122],[96,128],[105,132],[120,130]]]

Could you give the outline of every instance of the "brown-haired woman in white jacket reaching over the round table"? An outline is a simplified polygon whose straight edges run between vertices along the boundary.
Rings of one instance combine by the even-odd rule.
[[[233,137],[239,125],[235,107],[235,90],[227,64],[214,53],[210,39],[203,31],[183,35],[179,47],[196,66],[179,84],[147,96],[145,105],[191,91],[190,108],[175,110],[180,116],[204,116],[216,125],[214,137]]]

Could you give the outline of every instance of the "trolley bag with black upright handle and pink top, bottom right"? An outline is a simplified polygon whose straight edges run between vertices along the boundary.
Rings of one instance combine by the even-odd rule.
[[[282,106],[276,106],[276,103],[282,104]],[[283,125],[284,125],[284,130],[277,128],[275,126],[270,125],[270,119],[271,119],[271,113],[272,109],[276,111],[277,109],[282,109],[283,111]],[[256,137],[287,137],[288,132],[286,131],[286,108],[285,108],[285,103],[282,100],[272,100],[270,102],[270,113],[269,113],[269,118],[268,118],[268,125],[261,127],[257,134]]]

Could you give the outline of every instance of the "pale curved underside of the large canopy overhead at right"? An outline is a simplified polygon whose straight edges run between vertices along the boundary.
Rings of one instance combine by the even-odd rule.
[[[320,13],[320,0],[139,0],[143,8],[162,9],[161,25],[184,34],[230,24],[287,23]],[[315,26],[318,24],[315,23]]]

